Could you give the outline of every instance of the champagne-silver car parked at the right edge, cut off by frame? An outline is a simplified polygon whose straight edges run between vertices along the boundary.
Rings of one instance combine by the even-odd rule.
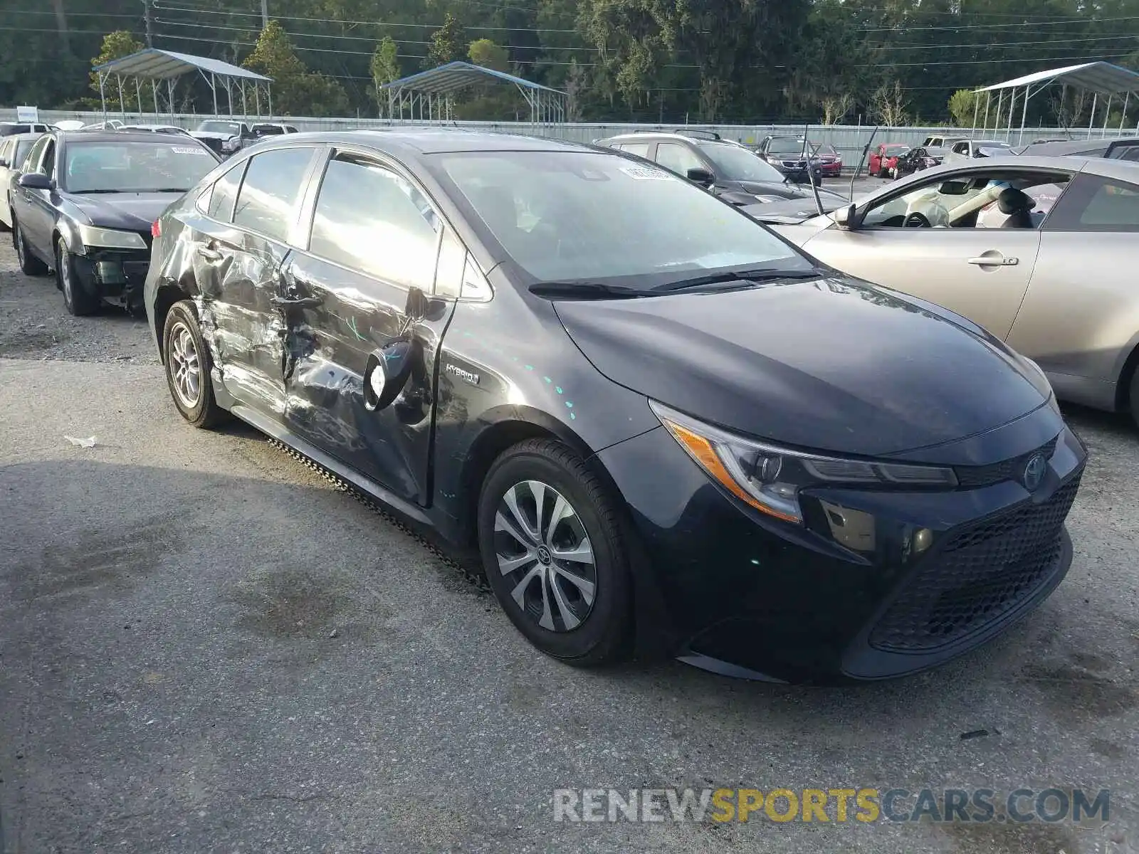
[[[747,208],[763,219],[763,206]],[[936,166],[778,231],[851,276],[944,305],[1035,360],[1062,400],[1139,421],[1139,166]]]

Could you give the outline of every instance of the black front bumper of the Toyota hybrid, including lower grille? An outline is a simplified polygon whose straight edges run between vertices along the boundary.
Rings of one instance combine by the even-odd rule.
[[[1064,428],[1031,494],[1010,479],[941,492],[813,490],[805,526],[727,495],[663,428],[598,457],[646,556],[637,585],[654,607],[646,617],[639,600],[638,621],[657,623],[653,634],[671,652],[728,675],[835,682],[941,664],[1047,598],[1072,561],[1064,520],[1085,452]],[[917,555],[919,528],[933,535]]]

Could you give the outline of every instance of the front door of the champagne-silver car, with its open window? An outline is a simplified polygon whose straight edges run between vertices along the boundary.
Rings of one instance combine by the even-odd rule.
[[[1015,183],[1039,206],[1050,204],[1066,180],[1026,174]],[[1039,213],[1011,221],[1002,214],[997,198],[1007,187],[980,172],[942,175],[875,202],[857,230],[831,225],[804,248],[851,276],[951,309],[1003,339],[1029,288],[1042,220]]]

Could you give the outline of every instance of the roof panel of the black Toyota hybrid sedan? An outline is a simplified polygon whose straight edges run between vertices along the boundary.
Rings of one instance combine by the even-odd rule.
[[[638,137],[641,134],[637,134]],[[274,138],[247,150],[294,147],[312,143],[355,145],[380,151],[444,154],[449,151],[598,151],[596,147],[560,139],[524,137],[514,133],[467,131],[458,128],[380,129],[360,131],[309,131]]]

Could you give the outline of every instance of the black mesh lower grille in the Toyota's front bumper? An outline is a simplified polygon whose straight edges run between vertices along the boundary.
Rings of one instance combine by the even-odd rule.
[[[925,558],[870,633],[898,652],[957,641],[1031,597],[1056,568],[1080,478],[1042,504],[1022,504],[950,534]]]

